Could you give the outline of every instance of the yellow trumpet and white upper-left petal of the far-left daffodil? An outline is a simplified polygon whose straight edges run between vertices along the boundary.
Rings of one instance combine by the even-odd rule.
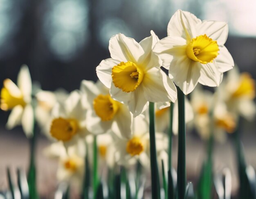
[[[25,107],[26,103],[23,96],[13,82],[10,79],[4,80],[4,87],[1,89],[1,103],[0,108],[4,111],[13,109],[17,105]]]

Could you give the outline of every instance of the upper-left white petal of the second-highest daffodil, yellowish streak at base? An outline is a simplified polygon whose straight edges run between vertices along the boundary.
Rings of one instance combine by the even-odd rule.
[[[137,63],[139,57],[144,54],[144,50],[138,42],[121,33],[110,38],[108,48],[111,58],[119,60],[119,62]]]

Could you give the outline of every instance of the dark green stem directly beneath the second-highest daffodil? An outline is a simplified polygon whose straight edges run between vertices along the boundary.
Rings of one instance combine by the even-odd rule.
[[[154,103],[149,103],[149,136],[150,136],[150,166],[152,199],[160,199],[159,174],[155,145],[155,110]]]

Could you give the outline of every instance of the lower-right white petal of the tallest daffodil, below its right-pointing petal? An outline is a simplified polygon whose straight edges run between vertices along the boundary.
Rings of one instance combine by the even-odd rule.
[[[218,70],[216,63],[201,64],[199,83],[216,87],[222,82],[223,73]]]

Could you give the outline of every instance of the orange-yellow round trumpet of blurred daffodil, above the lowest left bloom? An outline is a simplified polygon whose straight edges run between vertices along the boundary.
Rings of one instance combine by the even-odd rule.
[[[75,119],[57,118],[52,121],[51,135],[60,141],[69,141],[78,131],[78,123]]]

